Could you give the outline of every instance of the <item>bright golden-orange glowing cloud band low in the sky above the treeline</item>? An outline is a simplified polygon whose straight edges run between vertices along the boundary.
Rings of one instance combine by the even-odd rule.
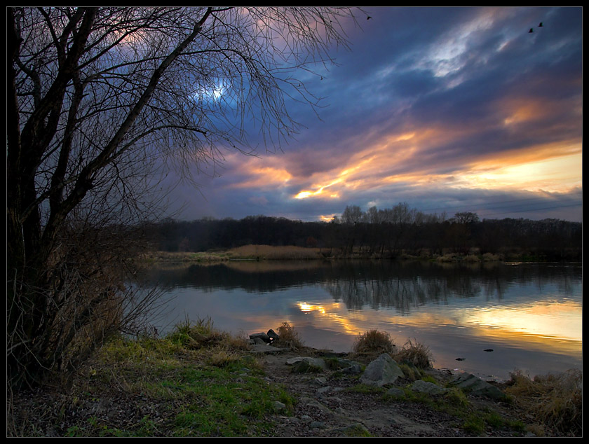
[[[369,190],[393,183],[407,186],[447,186],[489,190],[567,192],[582,185],[580,144],[546,144],[496,154],[464,153],[463,158],[438,164],[419,162],[439,131],[391,136],[386,143],[359,151],[337,176],[318,174],[310,188],[295,199],[339,198],[352,190]],[[451,137],[451,136],[449,136]],[[452,137],[458,137],[456,134]]]

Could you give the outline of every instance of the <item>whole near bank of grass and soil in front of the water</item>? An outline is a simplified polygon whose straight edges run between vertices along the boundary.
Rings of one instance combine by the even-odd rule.
[[[72,379],[9,394],[7,434],[582,436],[581,372],[533,380],[516,372],[494,383],[503,396],[491,399],[452,386],[419,342],[395,347],[372,330],[351,352],[334,354],[305,347],[286,322],[276,331],[266,346],[218,331],[210,319],[186,321],[164,338],[116,336]],[[402,376],[384,387],[363,383],[382,354]],[[287,366],[295,356],[325,366]],[[416,391],[418,381],[435,390]]]

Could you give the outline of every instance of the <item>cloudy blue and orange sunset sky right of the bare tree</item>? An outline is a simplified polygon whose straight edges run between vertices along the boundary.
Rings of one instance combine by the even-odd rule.
[[[407,202],[582,221],[581,7],[364,11],[349,50],[309,76],[318,115],[292,104],[303,127],[281,150],[229,152],[219,176],[180,183],[177,218],[319,221]]]

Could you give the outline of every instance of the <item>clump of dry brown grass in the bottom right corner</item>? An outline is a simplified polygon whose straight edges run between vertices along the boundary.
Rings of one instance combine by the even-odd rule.
[[[530,379],[521,371],[511,374],[506,393],[522,409],[532,412],[543,426],[570,436],[583,434],[583,373],[568,370],[559,375]]]

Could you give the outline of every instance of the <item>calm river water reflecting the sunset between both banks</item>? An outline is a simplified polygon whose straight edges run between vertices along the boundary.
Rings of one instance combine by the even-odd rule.
[[[171,301],[158,331],[187,318],[233,333],[287,321],[306,345],[347,352],[378,328],[428,345],[438,368],[507,378],[583,365],[580,263],[241,261],[161,265],[146,279]]]

